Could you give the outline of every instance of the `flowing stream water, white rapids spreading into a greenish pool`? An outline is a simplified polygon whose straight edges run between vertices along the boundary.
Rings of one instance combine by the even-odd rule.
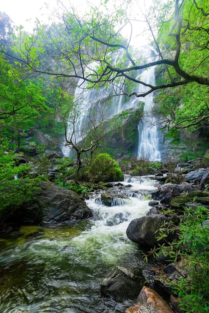
[[[100,284],[117,265],[136,258],[138,246],[127,238],[126,229],[150,208],[155,183],[149,177],[127,176],[119,192],[128,199],[118,198],[110,207],[99,193],[90,195],[90,221],[22,226],[2,236],[0,312],[121,313],[132,306],[134,299],[117,302],[102,296]]]

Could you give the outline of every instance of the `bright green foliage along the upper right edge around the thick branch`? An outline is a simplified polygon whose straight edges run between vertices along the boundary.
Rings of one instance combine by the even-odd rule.
[[[177,41],[175,35],[170,34],[174,24],[174,2],[167,0],[160,10],[156,10],[159,1],[154,1],[152,14],[157,23],[157,41],[164,58],[175,53]],[[176,1],[175,3],[178,3]],[[208,4],[207,1],[185,0],[178,3],[182,25],[180,28],[181,50],[178,63],[184,73],[207,77],[208,72]],[[162,12],[164,13],[164,17]],[[155,11],[156,10],[156,11]],[[175,12],[176,13],[176,12]],[[153,17],[152,15],[152,17]],[[177,32],[177,26],[173,28]],[[172,79],[179,80],[180,76],[174,72],[172,66],[168,66]],[[164,65],[157,68],[157,82],[170,81]],[[187,129],[190,133],[204,127],[209,122],[208,86],[197,82],[190,82],[175,88],[165,89],[158,93],[157,103],[159,111],[168,123],[168,136],[179,139],[179,131]]]

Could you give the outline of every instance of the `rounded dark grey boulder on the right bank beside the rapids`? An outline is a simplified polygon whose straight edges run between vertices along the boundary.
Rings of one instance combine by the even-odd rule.
[[[159,236],[159,228],[168,222],[168,217],[163,214],[152,214],[133,219],[126,230],[128,238],[136,243],[146,246],[155,246],[161,244],[164,239],[157,240]],[[172,241],[176,237],[174,234],[168,234],[166,241]]]

